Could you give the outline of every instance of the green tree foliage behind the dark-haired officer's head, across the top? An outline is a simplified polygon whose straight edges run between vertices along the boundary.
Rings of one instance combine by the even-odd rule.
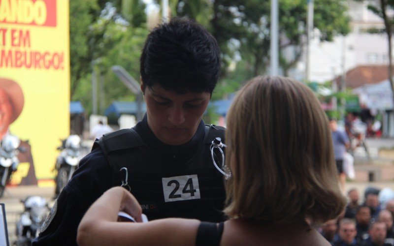
[[[161,0],[155,0],[159,5]],[[349,32],[345,0],[315,0],[314,26],[322,40]],[[216,37],[223,53],[220,82],[212,95],[220,99],[238,90],[253,76],[265,74],[269,64],[270,1],[169,0],[172,16],[188,16]],[[71,98],[92,109],[92,70],[104,82],[104,108],[114,100],[134,95],[111,71],[123,66],[139,80],[139,56],[145,38],[145,4],[142,0],[70,0]],[[281,52],[295,47],[294,61],[281,53],[283,70],[300,58],[306,30],[306,0],[279,0]],[[99,86],[98,86],[99,87]],[[102,112],[100,112],[102,113]]]

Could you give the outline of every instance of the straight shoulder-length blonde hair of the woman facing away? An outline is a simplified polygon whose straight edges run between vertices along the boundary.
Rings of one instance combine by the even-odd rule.
[[[324,222],[342,212],[328,119],[307,86],[255,77],[237,93],[227,126],[228,216]]]

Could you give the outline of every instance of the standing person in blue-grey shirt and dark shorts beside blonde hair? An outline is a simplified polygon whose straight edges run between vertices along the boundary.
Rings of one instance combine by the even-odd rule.
[[[331,128],[332,144],[334,146],[335,164],[338,171],[339,182],[342,192],[345,192],[346,174],[343,169],[343,155],[346,149],[350,148],[350,142],[346,133],[338,129],[336,119],[330,119],[329,126]]]

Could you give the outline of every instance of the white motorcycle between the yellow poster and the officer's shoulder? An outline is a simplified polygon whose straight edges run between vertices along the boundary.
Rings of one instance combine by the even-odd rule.
[[[55,178],[56,197],[66,186],[68,180],[71,179],[72,174],[77,169],[79,160],[82,157],[82,148],[81,138],[78,135],[68,136],[65,140],[62,140],[62,146],[57,148],[61,153],[56,158],[55,164],[55,170],[58,172]]]

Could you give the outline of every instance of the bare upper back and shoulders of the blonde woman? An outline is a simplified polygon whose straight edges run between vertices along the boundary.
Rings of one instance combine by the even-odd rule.
[[[228,220],[221,246],[330,246],[328,241],[306,223],[279,225]]]

